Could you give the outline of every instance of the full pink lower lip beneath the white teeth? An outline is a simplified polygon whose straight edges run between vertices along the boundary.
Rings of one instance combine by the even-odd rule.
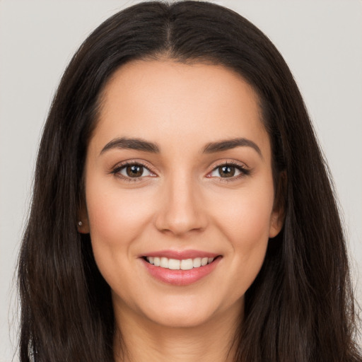
[[[189,284],[196,283],[200,279],[209,275],[213,271],[221,257],[217,257],[210,264],[206,264],[204,267],[192,268],[189,270],[171,270],[163,267],[155,267],[153,264],[146,262],[142,259],[148,272],[154,278],[159,281],[163,281],[166,284],[172,284],[174,286],[188,286]]]

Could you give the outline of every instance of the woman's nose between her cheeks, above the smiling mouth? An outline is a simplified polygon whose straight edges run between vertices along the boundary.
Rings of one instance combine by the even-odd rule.
[[[177,236],[206,228],[207,215],[201,192],[192,177],[185,175],[165,181],[155,225],[159,231]]]

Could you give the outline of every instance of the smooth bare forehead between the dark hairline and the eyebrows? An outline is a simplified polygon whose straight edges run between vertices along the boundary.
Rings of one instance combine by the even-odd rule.
[[[161,148],[167,141],[183,147],[187,139],[202,144],[243,136],[269,148],[260,113],[253,88],[224,66],[134,61],[115,71],[105,86],[93,136],[98,147],[122,136],[148,139]]]

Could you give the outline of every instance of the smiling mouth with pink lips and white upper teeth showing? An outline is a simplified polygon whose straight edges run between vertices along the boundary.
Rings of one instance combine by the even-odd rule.
[[[150,252],[141,260],[148,273],[158,281],[175,286],[187,286],[214,271],[221,255],[199,250],[163,250]]]

